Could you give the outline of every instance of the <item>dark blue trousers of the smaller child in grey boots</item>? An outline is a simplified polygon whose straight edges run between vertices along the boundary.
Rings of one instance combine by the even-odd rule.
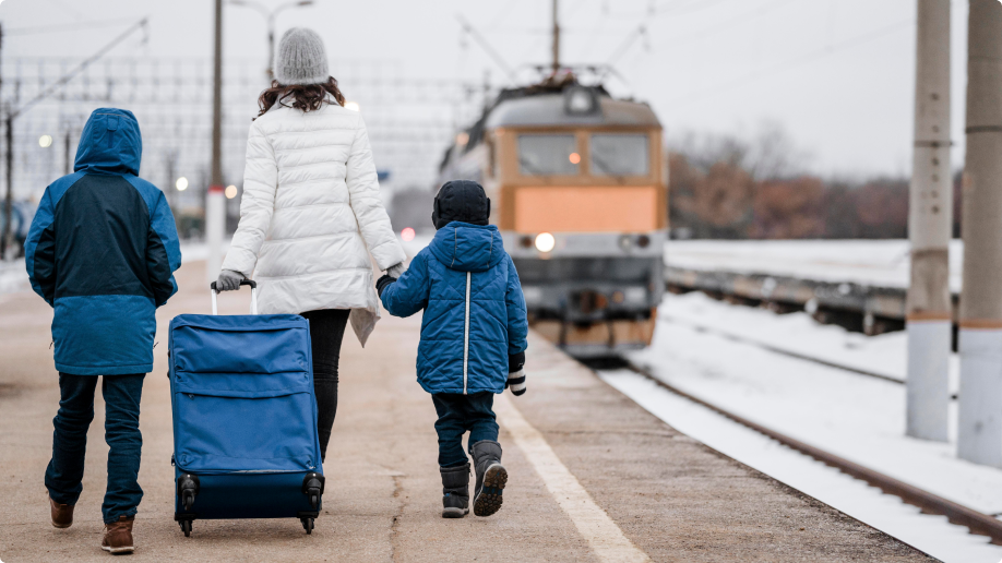
[[[437,393],[431,396],[439,420],[434,430],[439,433],[439,466],[456,467],[469,458],[463,450],[463,434],[469,432],[469,445],[481,440],[498,441],[498,422],[494,421],[494,394],[488,391],[462,395]]]

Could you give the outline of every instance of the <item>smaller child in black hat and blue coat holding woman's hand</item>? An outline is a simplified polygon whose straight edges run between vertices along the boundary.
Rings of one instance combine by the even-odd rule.
[[[390,314],[425,310],[418,383],[431,393],[439,415],[444,518],[469,513],[467,431],[477,472],[474,514],[490,516],[501,508],[508,471],[501,465],[493,395],[509,386],[515,395],[525,393],[525,299],[489,216],[490,200],[480,184],[446,182],[436,197],[434,239],[399,279],[386,275],[377,283]]]

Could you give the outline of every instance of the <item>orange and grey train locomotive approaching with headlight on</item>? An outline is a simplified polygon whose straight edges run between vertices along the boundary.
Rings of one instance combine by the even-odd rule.
[[[578,358],[651,344],[668,236],[661,124],[571,71],[502,89],[461,131],[438,184],[480,182],[530,326]]]

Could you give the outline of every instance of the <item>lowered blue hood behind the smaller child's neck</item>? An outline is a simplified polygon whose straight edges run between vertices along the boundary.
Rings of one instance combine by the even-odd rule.
[[[439,229],[429,248],[445,267],[460,272],[487,272],[505,255],[498,227],[457,220]]]

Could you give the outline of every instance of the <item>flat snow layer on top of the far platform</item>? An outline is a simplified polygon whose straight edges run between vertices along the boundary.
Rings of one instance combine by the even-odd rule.
[[[950,244],[950,286],[961,290],[962,241]],[[669,266],[773,274],[816,282],[908,287],[907,240],[670,240]]]

